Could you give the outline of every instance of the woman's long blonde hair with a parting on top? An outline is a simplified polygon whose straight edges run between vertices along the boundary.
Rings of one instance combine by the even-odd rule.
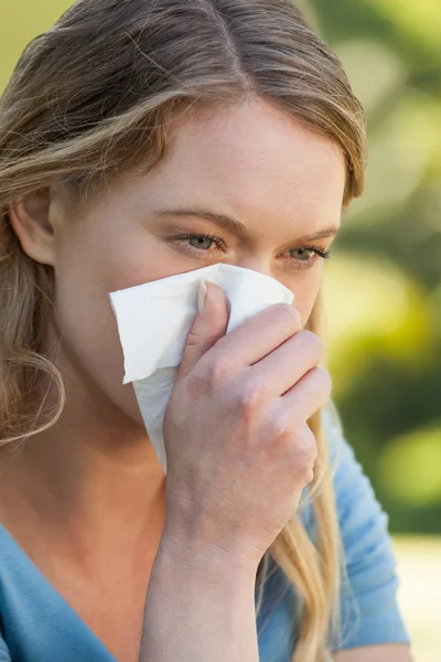
[[[64,404],[62,377],[42,352],[53,274],[21,249],[9,206],[60,182],[87,199],[122,172],[147,172],[179,109],[250,95],[333,140],[346,160],[344,204],[361,194],[362,107],[337,57],[290,0],[79,0],[24,51],[0,100],[0,444],[40,433]],[[318,303],[315,332],[319,314]],[[44,376],[57,385],[56,410],[29,405]],[[320,414],[310,426],[319,445],[314,542],[294,516],[268,553],[301,600],[293,662],[325,659],[338,600],[338,525]]]

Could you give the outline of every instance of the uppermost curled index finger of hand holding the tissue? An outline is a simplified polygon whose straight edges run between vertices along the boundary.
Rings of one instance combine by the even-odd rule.
[[[289,303],[276,303],[222,338],[203,362],[222,364],[225,357],[233,369],[254,365],[300,329],[301,319],[295,308]]]

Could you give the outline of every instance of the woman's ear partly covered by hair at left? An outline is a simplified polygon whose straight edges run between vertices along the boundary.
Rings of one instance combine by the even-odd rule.
[[[24,253],[33,260],[54,266],[55,233],[50,222],[51,191],[42,189],[9,207],[9,217]]]

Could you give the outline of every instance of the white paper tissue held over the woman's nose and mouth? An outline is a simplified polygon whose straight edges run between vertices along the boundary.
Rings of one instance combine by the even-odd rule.
[[[227,332],[273,303],[292,303],[292,292],[257,271],[217,264],[112,292],[125,357],[123,383],[133,382],[146,429],[164,471],[163,418],[197,313],[201,280],[215,282],[229,308]]]

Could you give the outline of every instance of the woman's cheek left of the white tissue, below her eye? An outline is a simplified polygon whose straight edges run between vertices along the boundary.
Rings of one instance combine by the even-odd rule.
[[[97,387],[141,423],[133,389],[122,385],[123,356],[109,293],[185,270],[144,228],[110,215],[72,226],[57,253],[55,320],[66,365],[87,393]]]

